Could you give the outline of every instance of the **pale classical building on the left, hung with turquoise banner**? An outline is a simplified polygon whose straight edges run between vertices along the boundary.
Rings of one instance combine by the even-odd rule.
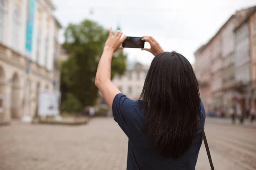
[[[37,113],[38,89],[59,86],[58,30],[50,0],[0,0],[0,121]]]

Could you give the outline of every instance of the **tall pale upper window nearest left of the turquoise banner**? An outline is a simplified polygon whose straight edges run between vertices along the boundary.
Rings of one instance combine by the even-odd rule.
[[[15,50],[18,50],[19,42],[19,30],[20,30],[20,14],[19,9],[16,6],[12,15],[12,46]]]

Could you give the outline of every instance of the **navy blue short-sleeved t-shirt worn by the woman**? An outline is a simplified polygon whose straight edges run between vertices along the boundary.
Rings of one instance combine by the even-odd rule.
[[[145,123],[142,100],[131,100],[124,94],[117,94],[113,100],[113,116],[118,125],[128,136],[127,170],[195,170],[199,149],[202,144],[201,130],[192,147],[178,159],[160,155],[157,148],[152,148],[150,140],[142,133]],[[204,105],[201,103],[203,125],[205,122]]]

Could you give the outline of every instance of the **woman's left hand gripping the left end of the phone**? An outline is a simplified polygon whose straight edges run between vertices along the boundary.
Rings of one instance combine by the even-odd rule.
[[[122,36],[122,32],[117,30],[116,34],[113,35],[112,27],[109,30],[108,40],[105,42],[104,50],[111,50],[113,53],[119,49],[123,49],[121,46],[122,42],[126,39],[126,36]]]

